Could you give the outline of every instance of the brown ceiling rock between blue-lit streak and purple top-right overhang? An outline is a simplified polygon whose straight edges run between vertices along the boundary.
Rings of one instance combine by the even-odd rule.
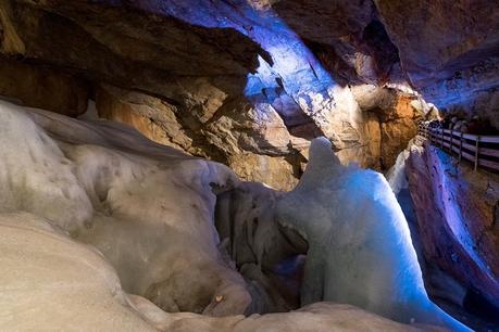
[[[399,60],[372,1],[272,1],[336,79],[344,84],[384,82]]]

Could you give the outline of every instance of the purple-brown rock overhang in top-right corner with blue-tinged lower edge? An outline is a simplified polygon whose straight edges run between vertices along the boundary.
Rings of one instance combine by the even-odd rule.
[[[402,68],[425,99],[473,113],[499,75],[499,8],[494,1],[374,0]],[[497,107],[498,104],[495,104]],[[486,114],[484,114],[486,115]],[[490,114],[488,114],[490,115]],[[494,116],[497,124],[497,116]]]

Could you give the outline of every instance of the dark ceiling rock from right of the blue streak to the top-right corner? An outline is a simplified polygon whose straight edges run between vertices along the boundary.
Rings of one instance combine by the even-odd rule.
[[[494,99],[498,88],[499,9],[494,1],[265,2],[333,75],[349,84],[409,85],[439,107],[499,124],[477,101]]]

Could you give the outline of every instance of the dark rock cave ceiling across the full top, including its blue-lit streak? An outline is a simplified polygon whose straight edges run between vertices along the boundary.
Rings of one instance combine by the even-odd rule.
[[[0,10],[2,53],[164,97],[186,76],[237,93],[255,71],[262,87],[291,95],[407,82],[439,106],[498,86],[495,1],[23,0]]]

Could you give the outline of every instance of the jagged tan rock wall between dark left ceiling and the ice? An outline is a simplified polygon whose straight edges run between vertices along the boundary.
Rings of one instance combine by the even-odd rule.
[[[262,114],[236,100],[215,114],[190,114],[164,100],[111,86],[99,87],[96,101],[99,116],[132,125],[155,142],[228,165],[246,180],[289,189],[301,171],[304,157],[290,146],[307,146],[308,141],[292,137],[272,107]]]

